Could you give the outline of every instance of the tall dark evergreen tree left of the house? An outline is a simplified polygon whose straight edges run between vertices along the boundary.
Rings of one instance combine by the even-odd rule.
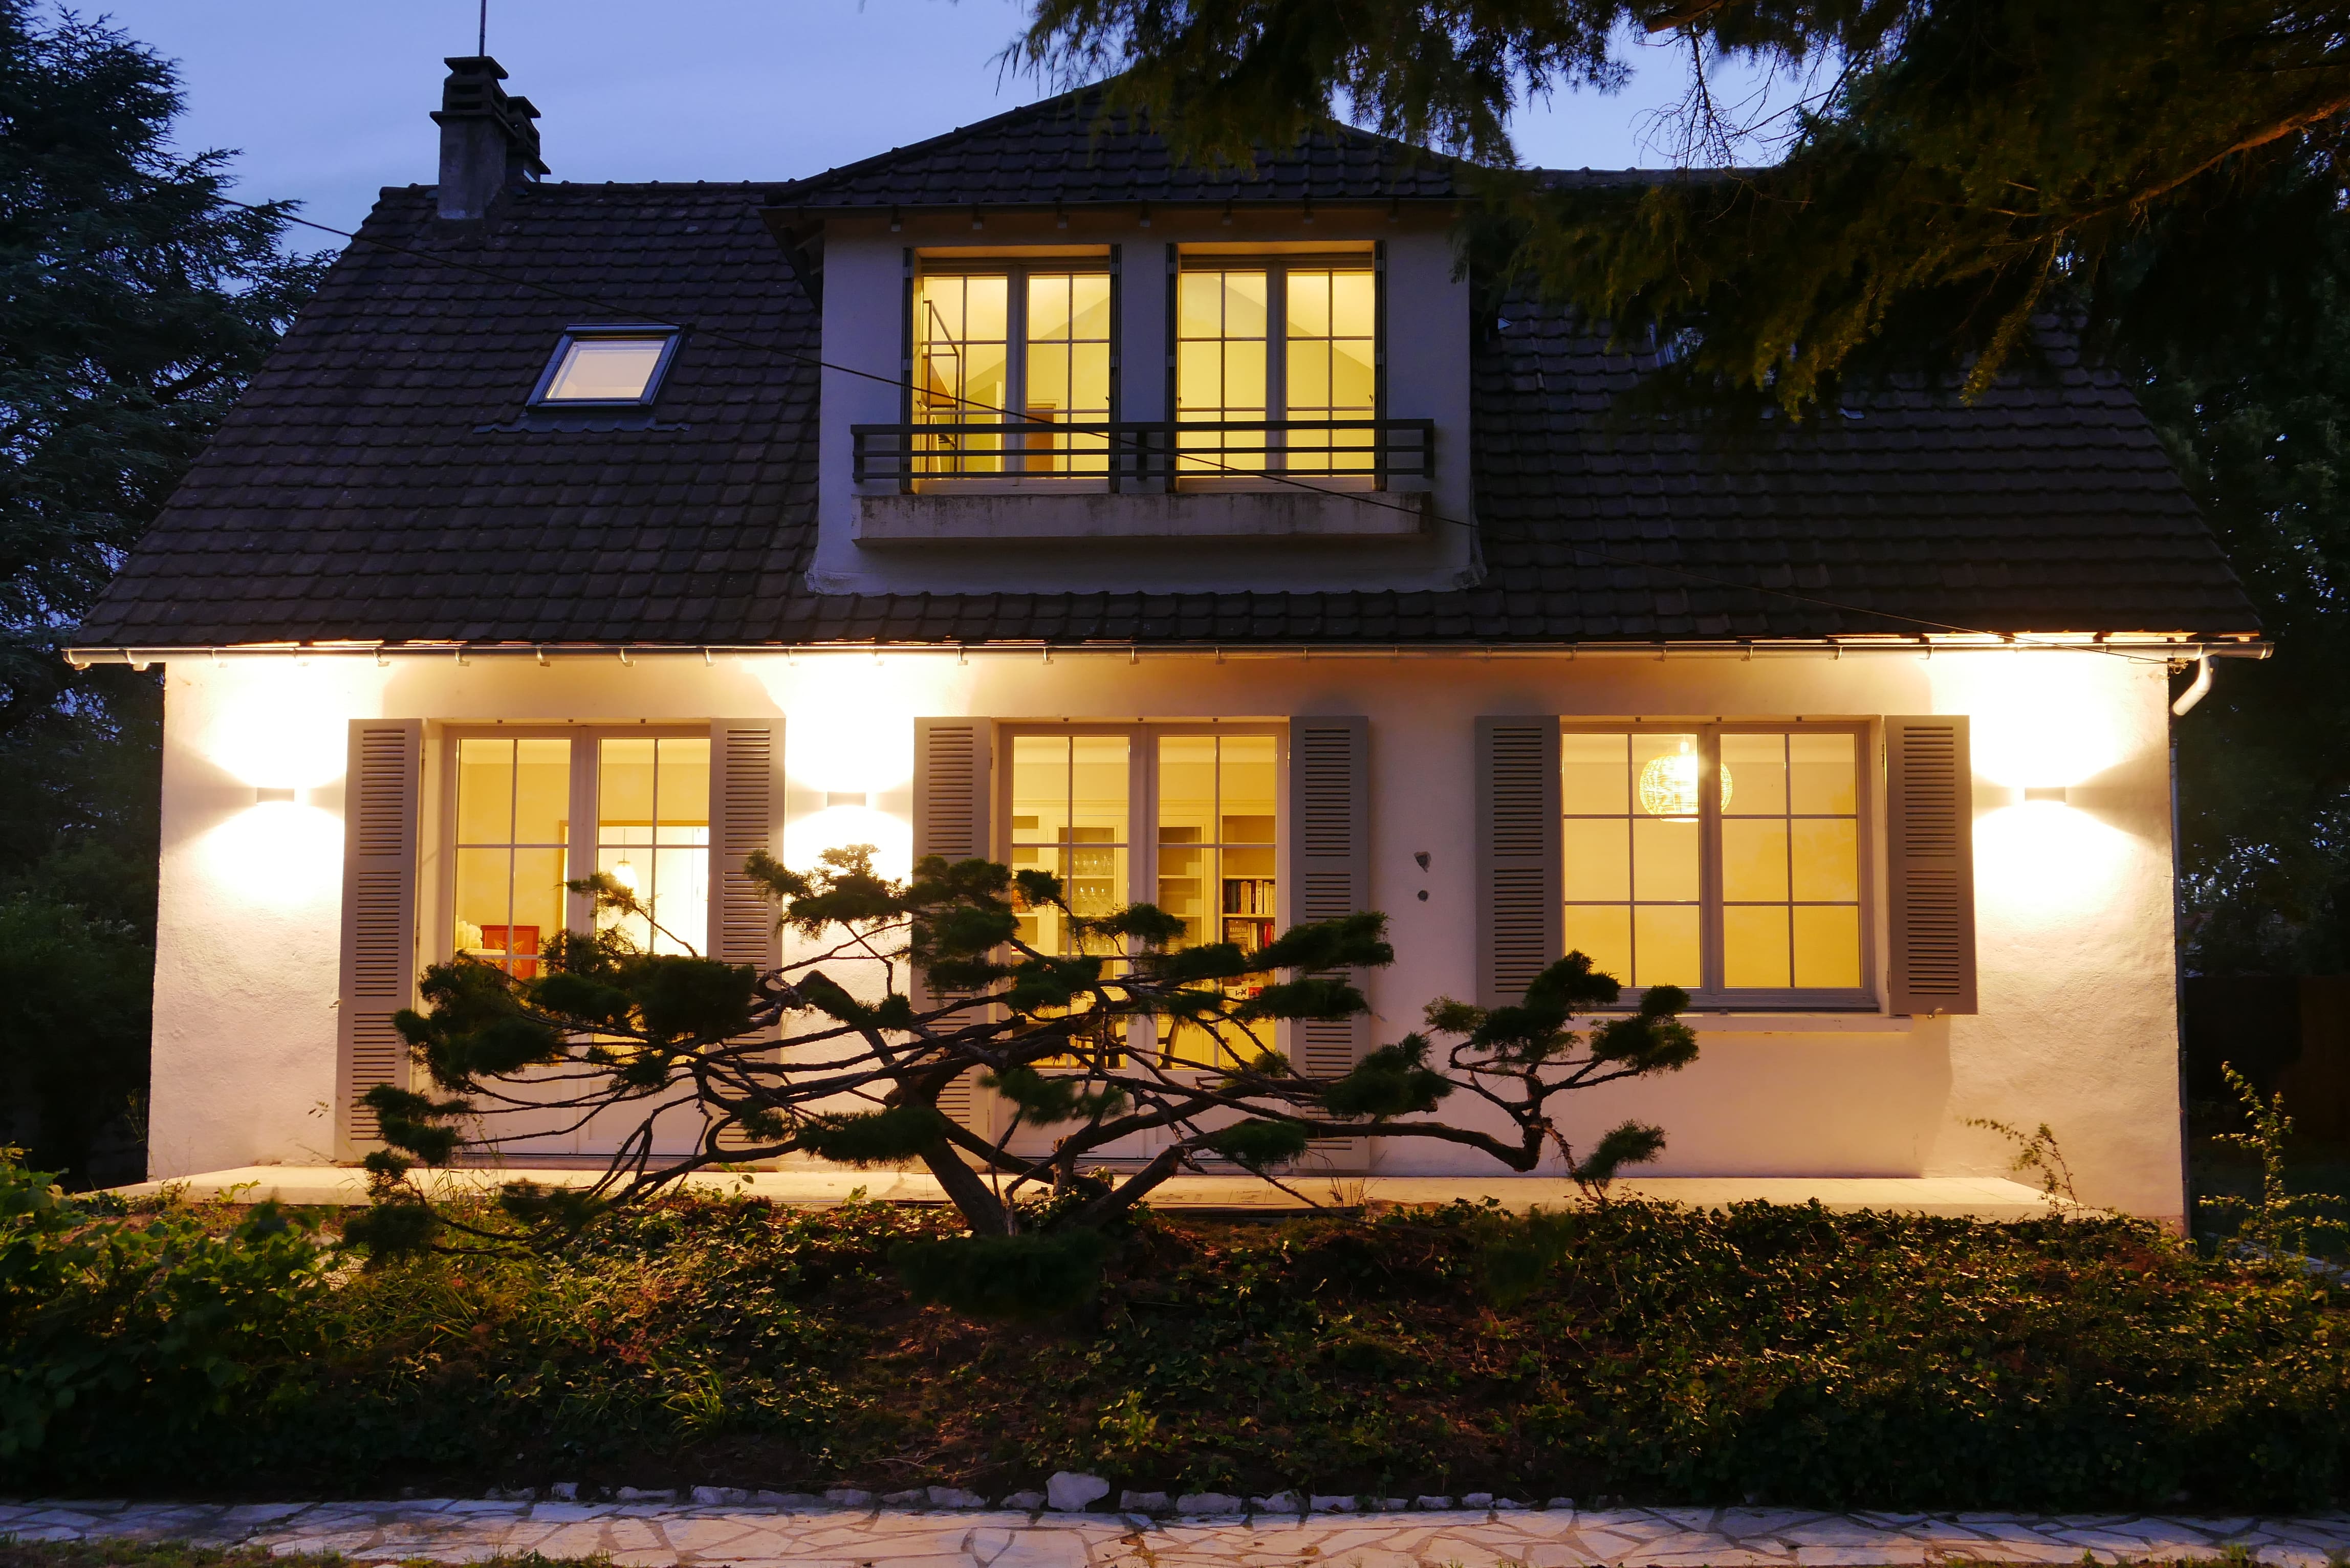
[[[61,649],[324,268],[179,110],[125,33],[0,0],[0,1143],[78,1185],[143,1175],[162,691]]]

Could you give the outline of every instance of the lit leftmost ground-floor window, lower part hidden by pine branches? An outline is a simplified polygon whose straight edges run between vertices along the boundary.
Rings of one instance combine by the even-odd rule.
[[[564,889],[609,872],[651,919],[602,914],[649,952],[700,952],[710,929],[710,736],[458,736],[451,952],[538,976],[590,903]],[[595,823],[576,835],[573,823]]]

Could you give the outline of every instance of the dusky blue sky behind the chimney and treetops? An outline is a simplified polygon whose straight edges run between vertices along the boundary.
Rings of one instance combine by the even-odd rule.
[[[113,0],[82,5],[181,63],[183,148],[240,148],[247,200],[298,197],[352,228],[378,186],[430,181],[444,54],[475,0]],[[994,63],[1020,0],[491,0],[489,52],[540,108],[555,179],[794,179],[1043,96]],[[1668,162],[1643,146],[1680,92],[1661,49],[1612,96],[1560,94],[1518,125],[1549,167]],[[324,235],[296,249],[336,244]]]

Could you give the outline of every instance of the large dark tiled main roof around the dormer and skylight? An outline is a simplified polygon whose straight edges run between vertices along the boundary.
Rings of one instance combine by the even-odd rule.
[[[1887,393],[1723,447],[1610,416],[1643,364],[1530,301],[1478,348],[1476,588],[818,595],[804,576],[818,317],[759,219],[813,183],[538,186],[486,228],[439,223],[430,188],[385,190],[362,230],[374,242],[345,249],[80,642],[2256,625],[2127,388],[2063,353],[1974,407]],[[595,320],[689,324],[656,428],[491,428],[515,423],[557,331]]]

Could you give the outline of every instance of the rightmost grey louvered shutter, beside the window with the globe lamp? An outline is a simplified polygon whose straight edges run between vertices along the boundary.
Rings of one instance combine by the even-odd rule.
[[[1885,719],[1894,1013],[1974,1011],[1974,764],[1967,717]]]

